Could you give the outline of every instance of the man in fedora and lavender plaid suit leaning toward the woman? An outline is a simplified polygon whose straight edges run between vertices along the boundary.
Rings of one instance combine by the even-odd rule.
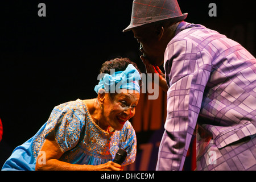
[[[123,30],[133,31],[147,72],[159,73],[167,91],[156,170],[182,170],[194,131],[197,170],[255,170],[256,59],[186,17],[176,0],[134,0]]]

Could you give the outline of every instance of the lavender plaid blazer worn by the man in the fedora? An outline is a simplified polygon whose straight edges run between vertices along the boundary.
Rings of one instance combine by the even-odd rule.
[[[217,148],[256,134],[256,60],[240,44],[181,22],[166,48],[164,69],[167,118],[157,170],[183,168],[196,124]],[[197,153],[203,144],[197,140]]]

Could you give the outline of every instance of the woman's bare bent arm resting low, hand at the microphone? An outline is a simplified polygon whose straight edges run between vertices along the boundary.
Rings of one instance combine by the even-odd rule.
[[[45,163],[39,162],[38,156],[36,159],[35,170],[39,171],[120,171],[121,165],[109,161],[105,164],[100,164],[98,166],[93,165],[80,165],[80,164],[70,164],[63,161],[60,161],[61,155],[63,152],[60,150],[59,146],[55,142],[53,134],[49,134],[46,140],[43,143],[43,146],[40,151],[43,151],[45,154]]]

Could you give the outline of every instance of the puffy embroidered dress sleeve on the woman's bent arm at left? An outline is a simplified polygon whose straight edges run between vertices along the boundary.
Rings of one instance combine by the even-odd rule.
[[[79,142],[84,127],[84,113],[84,106],[79,101],[56,106],[47,121],[44,138],[53,131],[60,150],[71,150]]]

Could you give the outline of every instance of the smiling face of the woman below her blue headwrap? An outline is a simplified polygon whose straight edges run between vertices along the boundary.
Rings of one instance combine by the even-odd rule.
[[[122,89],[121,93],[105,94],[104,117],[105,121],[115,130],[122,130],[125,122],[135,114],[135,107],[139,102],[139,92]]]

